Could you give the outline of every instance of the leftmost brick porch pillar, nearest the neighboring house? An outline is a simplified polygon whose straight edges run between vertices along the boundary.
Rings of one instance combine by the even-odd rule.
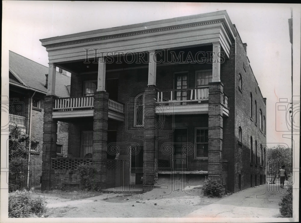
[[[57,147],[57,120],[52,119],[52,109],[56,98],[54,95],[44,97],[42,191],[50,190],[51,181],[56,180],[51,178],[51,158],[56,157]]]

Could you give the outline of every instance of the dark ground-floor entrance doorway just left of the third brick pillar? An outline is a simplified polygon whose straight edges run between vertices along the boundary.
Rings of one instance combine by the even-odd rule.
[[[131,155],[131,174],[135,174],[135,184],[141,185],[143,183],[143,146],[133,149]]]

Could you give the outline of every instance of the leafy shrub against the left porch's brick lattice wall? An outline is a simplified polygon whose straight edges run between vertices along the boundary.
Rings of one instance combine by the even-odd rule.
[[[77,166],[80,176],[81,188],[85,190],[97,190],[95,182],[95,168],[92,164],[80,164]]]

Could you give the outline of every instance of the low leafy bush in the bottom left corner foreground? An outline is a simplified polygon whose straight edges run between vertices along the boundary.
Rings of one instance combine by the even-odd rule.
[[[45,201],[40,198],[31,198],[30,192],[8,196],[8,217],[26,218],[33,214],[41,217],[47,211]]]

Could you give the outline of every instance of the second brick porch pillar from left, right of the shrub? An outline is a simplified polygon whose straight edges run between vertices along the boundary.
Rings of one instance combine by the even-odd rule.
[[[107,171],[107,131],[108,131],[109,93],[94,93],[93,151],[92,164],[95,167],[97,186],[106,186]],[[115,176],[112,176],[115,177]]]

